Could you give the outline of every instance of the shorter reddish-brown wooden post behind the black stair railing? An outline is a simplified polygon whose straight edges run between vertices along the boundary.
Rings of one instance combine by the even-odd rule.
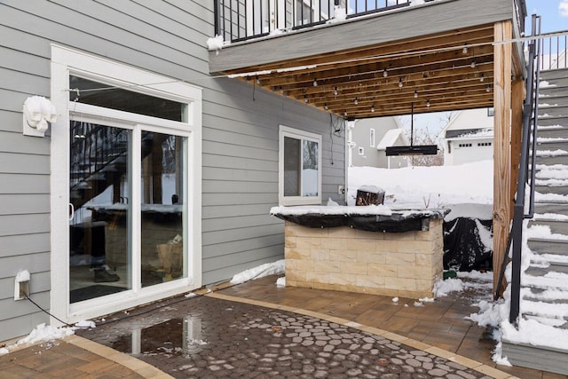
[[[517,193],[518,169],[521,161],[521,144],[523,139],[523,104],[525,101],[525,81],[517,77],[512,83],[511,98],[511,207]],[[512,209],[512,208],[511,208]],[[512,214],[511,214],[512,216]]]

